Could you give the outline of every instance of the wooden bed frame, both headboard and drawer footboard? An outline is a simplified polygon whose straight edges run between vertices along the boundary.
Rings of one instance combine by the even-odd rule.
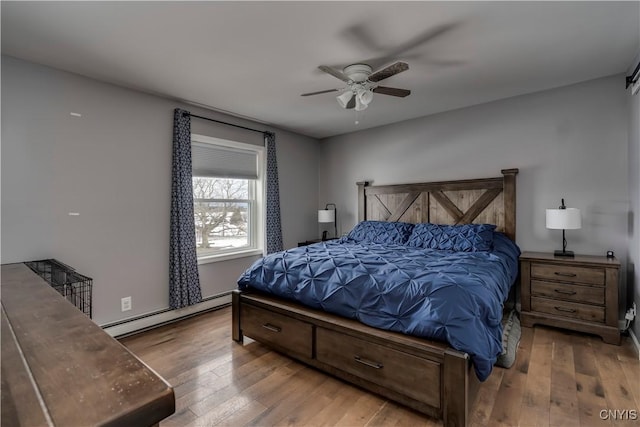
[[[360,182],[358,219],[489,223],[515,240],[517,173],[385,186]],[[248,336],[445,426],[469,424],[479,381],[467,353],[254,291],[234,291],[232,305],[235,341]]]

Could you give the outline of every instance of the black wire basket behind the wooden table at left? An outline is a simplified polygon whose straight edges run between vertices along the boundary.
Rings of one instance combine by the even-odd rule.
[[[25,265],[46,280],[53,289],[91,318],[91,288],[93,279],[84,276],[55,259],[25,262]]]

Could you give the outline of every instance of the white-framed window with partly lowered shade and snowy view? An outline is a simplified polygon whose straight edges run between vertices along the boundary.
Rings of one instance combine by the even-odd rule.
[[[264,148],[192,134],[191,150],[198,260],[262,253]]]

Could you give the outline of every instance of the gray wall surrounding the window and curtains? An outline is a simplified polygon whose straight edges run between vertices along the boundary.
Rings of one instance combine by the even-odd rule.
[[[167,308],[176,107],[275,131],[284,244],[315,236],[317,140],[3,56],[2,263],[57,258],[93,277],[98,324]],[[198,119],[192,132],[262,144]],[[254,259],[201,265],[203,296],[235,288]]]

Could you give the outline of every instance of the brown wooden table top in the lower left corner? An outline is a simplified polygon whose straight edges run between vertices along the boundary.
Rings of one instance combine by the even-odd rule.
[[[24,264],[2,265],[2,425],[151,426],[173,388]]]

